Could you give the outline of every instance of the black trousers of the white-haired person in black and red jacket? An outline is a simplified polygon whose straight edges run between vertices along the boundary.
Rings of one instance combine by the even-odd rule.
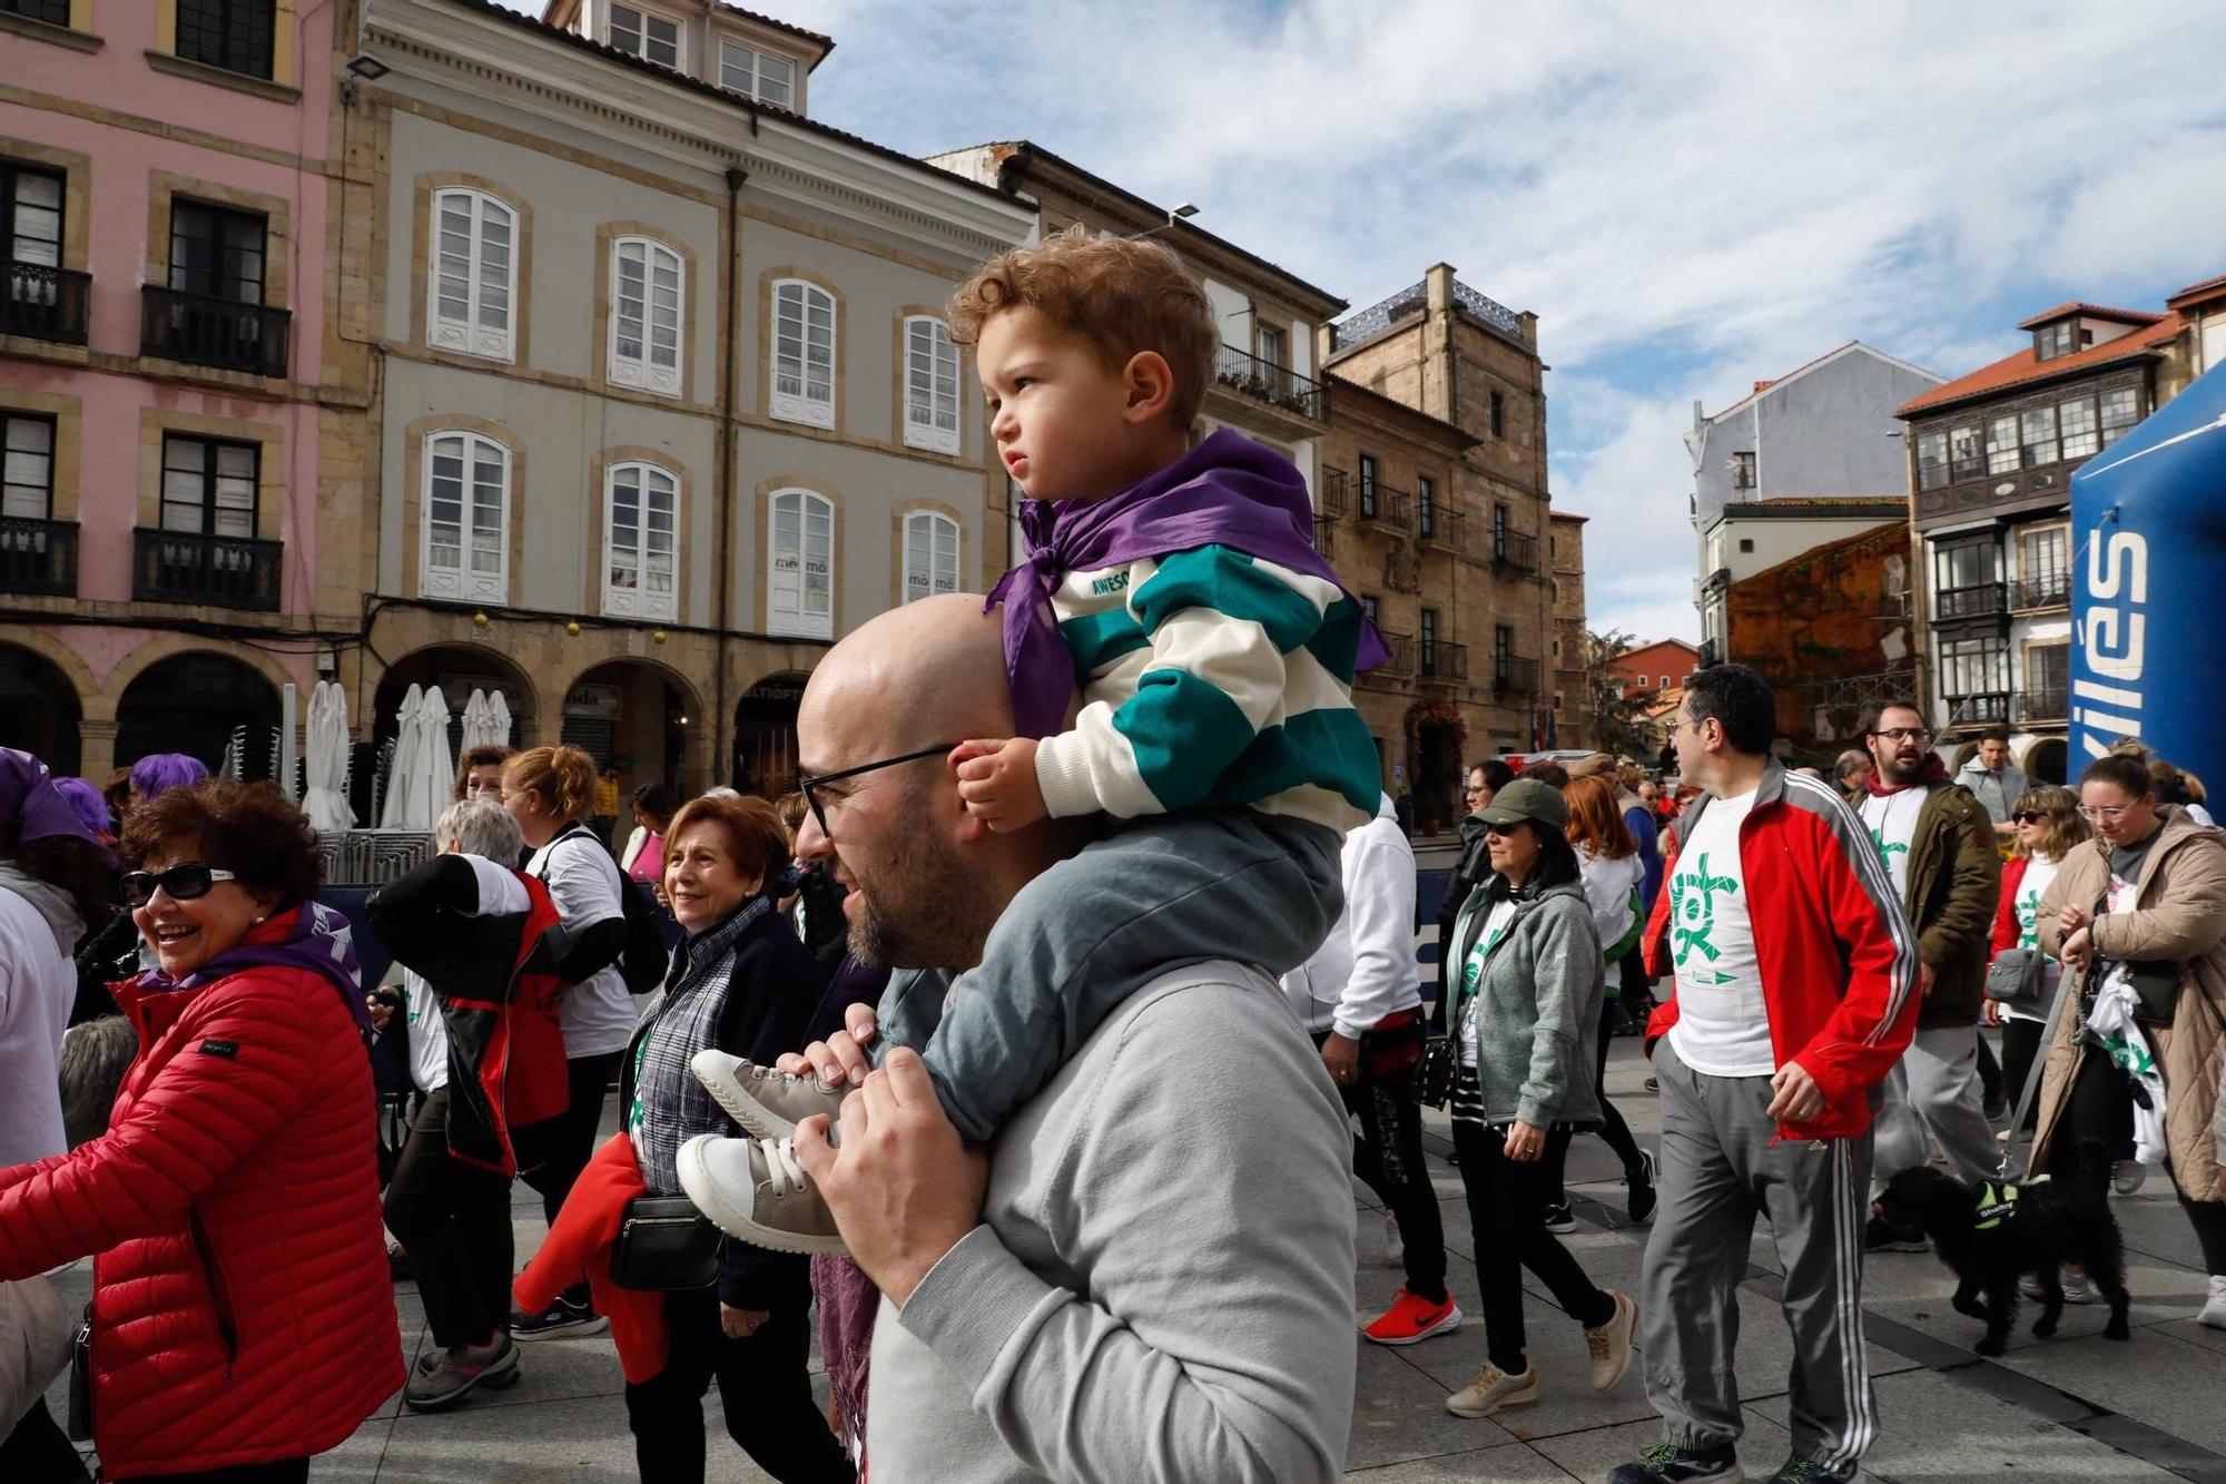
[[[485,1344],[510,1319],[510,1179],[447,1152],[447,1087],[418,1103],[387,1183],[387,1230],[416,1263],[443,1350]]]

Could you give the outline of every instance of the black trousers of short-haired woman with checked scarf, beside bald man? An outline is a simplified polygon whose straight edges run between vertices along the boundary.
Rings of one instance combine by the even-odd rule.
[[[812,1402],[808,1299],[772,1310],[748,1339],[719,1328],[710,1290],[668,1292],[670,1357],[648,1382],[626,1386],[641,1484],[701,1484],[703,1393],[719,1382],[726,1431],[781,1484],[850,1484],[857,1471]]]

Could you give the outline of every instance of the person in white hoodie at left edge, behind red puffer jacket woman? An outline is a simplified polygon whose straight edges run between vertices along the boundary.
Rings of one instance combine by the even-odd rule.
[[[109,849],[53,787],[47,764],[0,746],[0,1170],[69,1148],[60,1065],[62,1032],[78,998],[71,951],[102,909],[109,865]],[[11,1315],[51,1308],[45,1295],[20,1283],[9,1290]],[[45,1399],[29,1402],[7,1422],[0,1480],[87,1477]]]

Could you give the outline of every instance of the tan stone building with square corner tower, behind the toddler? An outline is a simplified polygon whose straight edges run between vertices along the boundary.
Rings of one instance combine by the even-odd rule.
[[[1362,677],[1356,693],[1380,726],[1387,775],[1414,791],[1418,827],[1445,827],[1462,764],[1536,749],[1549,729],[1556,619],[1538,316],[1485,299],[1440,263],[1322,339],[1331,446],[1320,510],[1333,562],[1356,593],[1385,597],[1393,637],[1411,635],[1405,673]],[[1402,423],[1385,403],[1429,421]],[[1429,468],[1442,468],[1445,484],[1431,484],[1425,510],[1414,481]],[[1580,602],[1583,586],[1572,588]],[[1414,628],[1402,628],[1409,611]],[[1438,615],[1431,644],[1425,613]],[[1436,666],[1427,677],[1425,653]]]

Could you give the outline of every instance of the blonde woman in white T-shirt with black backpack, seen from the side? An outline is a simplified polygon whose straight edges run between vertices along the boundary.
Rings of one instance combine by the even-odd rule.
[[[603,1090],[634,1036],[634,996],[619,958],[626,954],[626,882],[619,862],[588,829],[594,809],[594,760],[577,746],[530,746],[503,764],[503,809],[519,822],[532,856],[525,873],[548,887],[572,936],[568,972],[579,978],[563,996],[563,1049],[570,1081],[563,1127],[548,1141],[548,1161],[521,1179],[541,1192],[541,1208],[556,1223],[572,1181],[594,1154],[594,1125]],[[539,1315],[512,1312],[516,1339],[590,1332],[608,1321],[594,1312],[588,1286],[556,1297]]]

